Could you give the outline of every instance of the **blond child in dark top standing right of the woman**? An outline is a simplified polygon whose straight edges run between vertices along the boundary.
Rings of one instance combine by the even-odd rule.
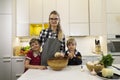
[[[76,50],[76,45],[77,44],[74,38],[70,38],[67,40],[68,50],[65,52],[65,55],[69,58],[68,65],[82,64],[82,56],[80,52]]]

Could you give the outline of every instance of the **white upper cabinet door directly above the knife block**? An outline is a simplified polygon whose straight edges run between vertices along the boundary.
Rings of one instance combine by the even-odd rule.
[[[104,22],[105,0],[89,0],[90,22]]]

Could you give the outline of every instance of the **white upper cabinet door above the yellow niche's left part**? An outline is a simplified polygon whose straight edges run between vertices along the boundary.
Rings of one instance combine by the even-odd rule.
[[[30,23],[42,23],[43,0],[30,0]]]

